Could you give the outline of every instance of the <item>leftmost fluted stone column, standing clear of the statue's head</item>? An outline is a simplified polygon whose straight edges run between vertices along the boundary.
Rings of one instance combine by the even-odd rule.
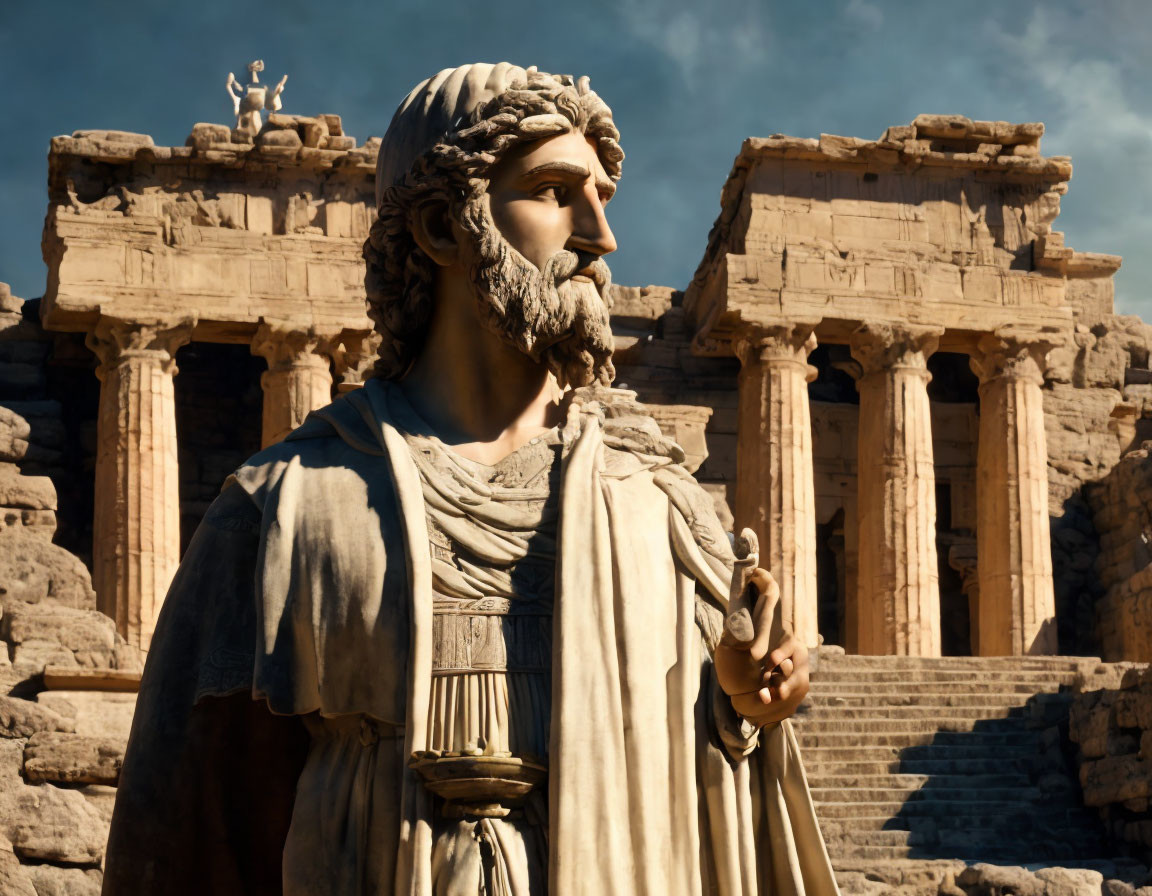
[[[88,336],[100,359],[92,580],[99,609],[147,650],[180,563],[176,349],[190,317],[101,317]]]

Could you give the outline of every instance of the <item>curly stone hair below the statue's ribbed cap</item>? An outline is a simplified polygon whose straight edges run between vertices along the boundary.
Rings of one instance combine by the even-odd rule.
[[[397,380],[424,346],[435,264],[412,238],[412,215],[430,198],[458,220],[487,190],[488,173],[514,146],[576,129],[596,141],[605,170],[620,179],[624,153],[612,111],[586,77],[528,70],[526,82],[478,106],[460,130],[420,155],[402,183],[385,188],[364,243],[369,317],[384,337],[374,375]]]

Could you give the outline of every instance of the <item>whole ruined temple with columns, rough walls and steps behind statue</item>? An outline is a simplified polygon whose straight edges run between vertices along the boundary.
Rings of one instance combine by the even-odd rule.
[[[1073,691],[1122,678],[1129,696],[1092,698],[1073,732],[1085,798],[1152,848],[1132,797],[1152,796],[1137,746],[1152,715],[1109,709],[1149,685],[1094,659],[1152,660],[1152,326],[1115,314],[1117,257],[1053,229],[1073,168],[1041,135],[922,115],[876,141],[748,139],[692,282],[614,287],[616,385],[681,445],[722,522],[757,531],[788,618],[824,645],[798,728],[847,875],[967,858],[947,834],[983,823],[967,803],[938,797],[947,822],[922,827],[892,794],[931,789],[919,761],[968,762],[986,788],[1001,731],[1047,751],[1010,762],[1049,789],[998,810],[1028,856],[1097,844],[1059,726]],[[41,800],[83,825],[67,842],[20,828],[33,878],[97,876],[141,651],[223,479],[370,375],[378,149],[338,115],[271,114],[255,136],[196,124],[184,146],[52,142],[44,296],[0,294],[0,577],[22,583],[0,595],[0,728],[26,783],[24,802],[0,794],[0,821]],[[973,676],[985,693],[941,690]],[[995,727],[1017,716],[1031,728]],[[1097,770],[1109,762],[1128,770]],[[1040,794],[1024,776],[1002,805]],[[877,796],[828,796],[849,787]],[[1053,792],[1066,827],[1041,823]]]

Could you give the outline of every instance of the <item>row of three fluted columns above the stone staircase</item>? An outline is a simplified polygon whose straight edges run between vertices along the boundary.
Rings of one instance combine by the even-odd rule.
[[[940,655],[935,471],[927,358],[940,329],[864,325],[850,337],[859,392],[857,575],[849,650]],[[818,643],[816,501],[808,382],[814,325],[746,332],[741,360],[737,525],[760,539],[785,620]],[[985,336],[979,377],[973,644],[978,655],[1056,652],[1043,362],[1048,346]]]

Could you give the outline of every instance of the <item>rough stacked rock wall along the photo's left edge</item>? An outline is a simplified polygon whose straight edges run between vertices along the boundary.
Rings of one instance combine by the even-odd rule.
[[[37,395],[50,343],[24,312],[0,295],[0,893],[96,896],[135,705],[108,689],[132,688],[143,658],[53,544],[53,480],[25,474],[69,450],[61,405]]]

